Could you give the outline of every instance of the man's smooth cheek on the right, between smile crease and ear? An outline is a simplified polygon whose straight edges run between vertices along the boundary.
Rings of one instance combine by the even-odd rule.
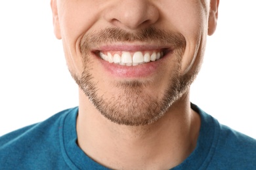
[[[163,12],[162,25],[166,25],[166,29],[181,33],[186,39],[186,49],[181,65],[182,74],[185,74],[194,64],[199,63],[199,58],[202,58],[201,50],[204,49],[202,45],[204,46],[207,35],[207,16],[202,3],[198,0],[165,2],[159,7],[159,9],[166,9]]]

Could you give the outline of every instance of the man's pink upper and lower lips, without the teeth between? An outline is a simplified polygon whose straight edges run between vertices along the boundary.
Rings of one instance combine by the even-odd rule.
[[[116,51],[116,52],[137,52],[137,51],[156,51],[156,50],[164,50],[165,55],[163,58],[158,59],[157,61],[151,61],[148,63],[143,63],[141,65],[136,66],[125,66],[118,65],[116,63],[109,63],[104,59],[98,56],[99,52],[108,52],[108,51]],[[173,48],[169,46],[156,46],[156,45],[105,45],[100,46],[99,48],[91,50],[91,53],[94,54],[95,58],[101,63],[104,74],[108,74],[110,76],[114,76],[116,78],[147,78],[154,74],[158,74],[158,70],[161,67],[161,64],[164,63],[166,56],[171,56],[171,52],[173,52]]]

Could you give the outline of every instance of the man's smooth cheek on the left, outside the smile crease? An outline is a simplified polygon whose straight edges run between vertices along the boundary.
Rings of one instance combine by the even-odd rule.
[[[89,3],[92,1],[62,1],[59,20],[62,43],[68,69],[77,75],[83,72],[80,42],[97,20],[97,14]]]

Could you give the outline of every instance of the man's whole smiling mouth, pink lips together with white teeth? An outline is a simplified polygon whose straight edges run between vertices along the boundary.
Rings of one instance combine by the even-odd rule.
[[[170,46],[108,45],[91,51],[105,73],[118,78],[149,78],[158,75],[166,64],[165,57],[173,56]]]

